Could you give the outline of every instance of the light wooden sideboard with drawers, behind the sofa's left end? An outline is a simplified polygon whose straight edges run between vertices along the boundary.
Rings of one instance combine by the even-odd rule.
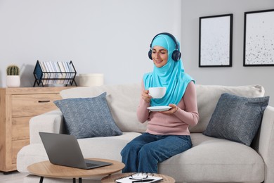
[[[16,170],[18,151],[30,143],[30,118],[56,109],[53,101],[68,88],[0,88],[0,171]]]

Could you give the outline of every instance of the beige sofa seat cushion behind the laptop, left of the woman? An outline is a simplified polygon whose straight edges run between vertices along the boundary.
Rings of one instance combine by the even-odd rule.
[[[129,141],[139,135],[140,133],[137,132],[124,132],[120,136],[78,139],[78,142],[84,158],[105,158],[121,161],[120,151]],[[48,160],[43,144],[24,146],[17,155],[17,169],[19,172],[28,172],[28,165],[42,160]]]

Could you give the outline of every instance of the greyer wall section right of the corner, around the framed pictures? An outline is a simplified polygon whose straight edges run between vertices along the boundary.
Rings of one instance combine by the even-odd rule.
[[[274,67],[243,67],[244,12],[273,9],[273,0],[183,0],[181,49],[185,71],[197,84],[239,86],[261,84],[274,106]],[[199,68],[199,18],[233,13],[233,67]]]

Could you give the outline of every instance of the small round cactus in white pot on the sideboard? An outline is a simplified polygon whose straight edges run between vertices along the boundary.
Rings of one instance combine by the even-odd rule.
[[[8,65],[6,68],[6,86],[20,87],[20,69],[17,65]]]

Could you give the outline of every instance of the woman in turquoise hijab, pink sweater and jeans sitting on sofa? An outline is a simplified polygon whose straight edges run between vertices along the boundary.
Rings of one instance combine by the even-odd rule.
[[[199,120],[194,80],[184,72],[179,43],[169,33],[157,34],[150,44],[153,72],[143,76],[137,109],[140,122],[148,120],[144,134],[121,151],[122,172],[157,173],[157,164],[191,148],[188,126]],[[162,99],[152,99],[149,87],[166,87]],[[170,106],[169,111],[152,112],[150,106]]]

